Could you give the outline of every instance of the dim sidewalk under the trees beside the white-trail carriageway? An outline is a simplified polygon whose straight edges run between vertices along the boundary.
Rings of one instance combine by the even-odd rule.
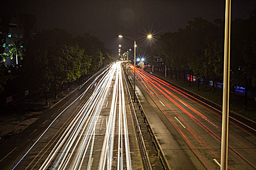
[[[48,108],[45,105],[44,94],[40,92],[27,96],[20,101],[2,106],[0,110],[0,141],[6,140],[10,136],[17,135],[25,130],[29,125],[42,117],[45,111],[65,99],[79,86],[77,83],[74,83],[69,91],[67,91],[67,88],[64,88],[63,94],[59,94],[57,100],[55,100],[54,91],[50,91],[48,93]]]

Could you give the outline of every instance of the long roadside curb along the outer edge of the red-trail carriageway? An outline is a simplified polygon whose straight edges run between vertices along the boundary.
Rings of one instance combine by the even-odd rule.
[[[145,70],[145,71],[146,71],[146,70]],[[202,97],[202,96],[196,94],[195,92],[192,92],[192,91],[190,91],[190,90],[188,90],[188,89],[186,89],[186,88],[184,88],[184,87],[181,87],[180,85],[177,85],[177,84],[175,84],[175,83],[173,83],[173,82],[170,82],[169,80],[166,80],[166,79],[163,78],[162,76],[159,76],[159,75],[154,74],[154,73],[149,72],[149,71],[146,71],[146,72],[148,72],[149,74],[153,74],[153,75],[155,75],[155,76],[158,76],[158,77],[160,77],[161,79],[165,80],[166,82],[169,82],[169,83],[172,84],[172,85],[176,85],[176,86],[179,87],[180,89],[182,89],[182,90],[184,90],[184,91],[186,91],[186,92],[188,92],[188,93],[191,93],[192,95],[197,96],[197,97],[199,97],[199,98],[201,98],[201,99],[203,99],[203,100],[205,100],[205,101],[207,101],[207,102],[209,102],[209,103],[211,103],[211,104],[214,104],[215,106],[219,107],[220,109],[222,109],[222,106],[219,105],[219,104],[217,104],[216,102],[210,101],[209,99],[206,99],[206,98],[204,98],[204,97]],[[230,110],[230,109],[229,109],[229,112],[232,113],[232,114],[234,114],[234,115],[236,115],[236,116],[239,116],[239,117],[241,117],[241,118],[243,118],[243,119],[246,119],[246,120],[251,121],[252,123],[255,123],[255,124],[256,124],[256,121],[254,121],[254,120],[252,120],[252,119],[249,119],[249,118],[246,118],[245,116],[240,115],[239,113],[236,113],[236,112],[234,112],[233,110]],[[220,113],[221,113],[221,112],[220,112]]]

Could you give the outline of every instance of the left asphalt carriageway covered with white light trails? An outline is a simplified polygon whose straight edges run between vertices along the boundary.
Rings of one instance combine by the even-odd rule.
[[[1,146],[15,148],[1,159],[0,169],[142,169],[123,76],[120,62],[99,71],[46,113],[51,118],[36,122],[15,144]]]

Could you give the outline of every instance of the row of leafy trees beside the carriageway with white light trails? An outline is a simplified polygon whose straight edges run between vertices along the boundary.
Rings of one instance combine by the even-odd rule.
[[[44,91],[47,101],[50,89],[55,89],[57,97],[63,84],[81,80],[111,60],[104,43],[95,36],[72,37],[60,29],[41,31],[26,46],[17,80],[23,88]],[[5,70],[0,71],[1,77],[7,77],[6,68],[1,68]]]

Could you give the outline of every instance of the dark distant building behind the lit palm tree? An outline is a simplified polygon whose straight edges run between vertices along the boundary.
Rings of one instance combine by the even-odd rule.
[[[6,34],[6,42],[3,47],[8,47],[12,41],[15,41],[20,48],[25,51],[26,42],[28,42],[37,32],[37,20],[36,16],[29,14],[14,14],[12,16],[0,16],[1,20],[5,21],[8,27],[8,33]],[[8,52],[8,50],[5,50]],[[18,64],[20,63],[20,57],[18,57]],[[10,57],[6,57],[4,62],[5,66],[16,65],[16,58],[12,60]]]

